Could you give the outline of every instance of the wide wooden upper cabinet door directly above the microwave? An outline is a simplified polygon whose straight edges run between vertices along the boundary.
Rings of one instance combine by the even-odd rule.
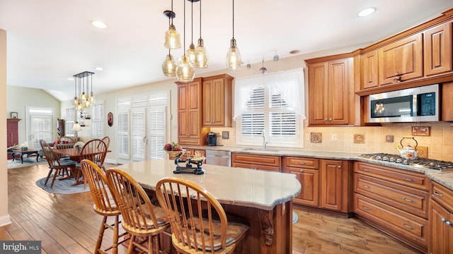
[[[423,77],[423,34],[403,38],[378,49],[379,85]]]

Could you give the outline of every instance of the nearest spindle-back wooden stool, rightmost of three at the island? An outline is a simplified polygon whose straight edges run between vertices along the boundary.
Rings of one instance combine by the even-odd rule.
[[[171,224],[171,241],[178,253],[233,253],[248,231],[246,222],[227,217],[219,201],[192,181],[161,179],[156,196]]]

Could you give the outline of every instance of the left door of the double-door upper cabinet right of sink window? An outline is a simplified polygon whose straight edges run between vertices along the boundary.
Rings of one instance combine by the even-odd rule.
[[[309,124],[327,124],[327,63],[309,66]]]

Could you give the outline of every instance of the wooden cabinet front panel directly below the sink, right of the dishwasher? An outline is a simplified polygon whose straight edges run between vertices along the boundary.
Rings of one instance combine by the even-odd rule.
[[[233,152],[231,154],[231,167],[280,172],[280,156]]]

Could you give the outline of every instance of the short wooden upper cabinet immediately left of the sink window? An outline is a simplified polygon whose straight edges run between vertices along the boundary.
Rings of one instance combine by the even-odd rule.
[[[203,126],[231,127],[232,80],[233,77],[226,74],[203,78]]]

